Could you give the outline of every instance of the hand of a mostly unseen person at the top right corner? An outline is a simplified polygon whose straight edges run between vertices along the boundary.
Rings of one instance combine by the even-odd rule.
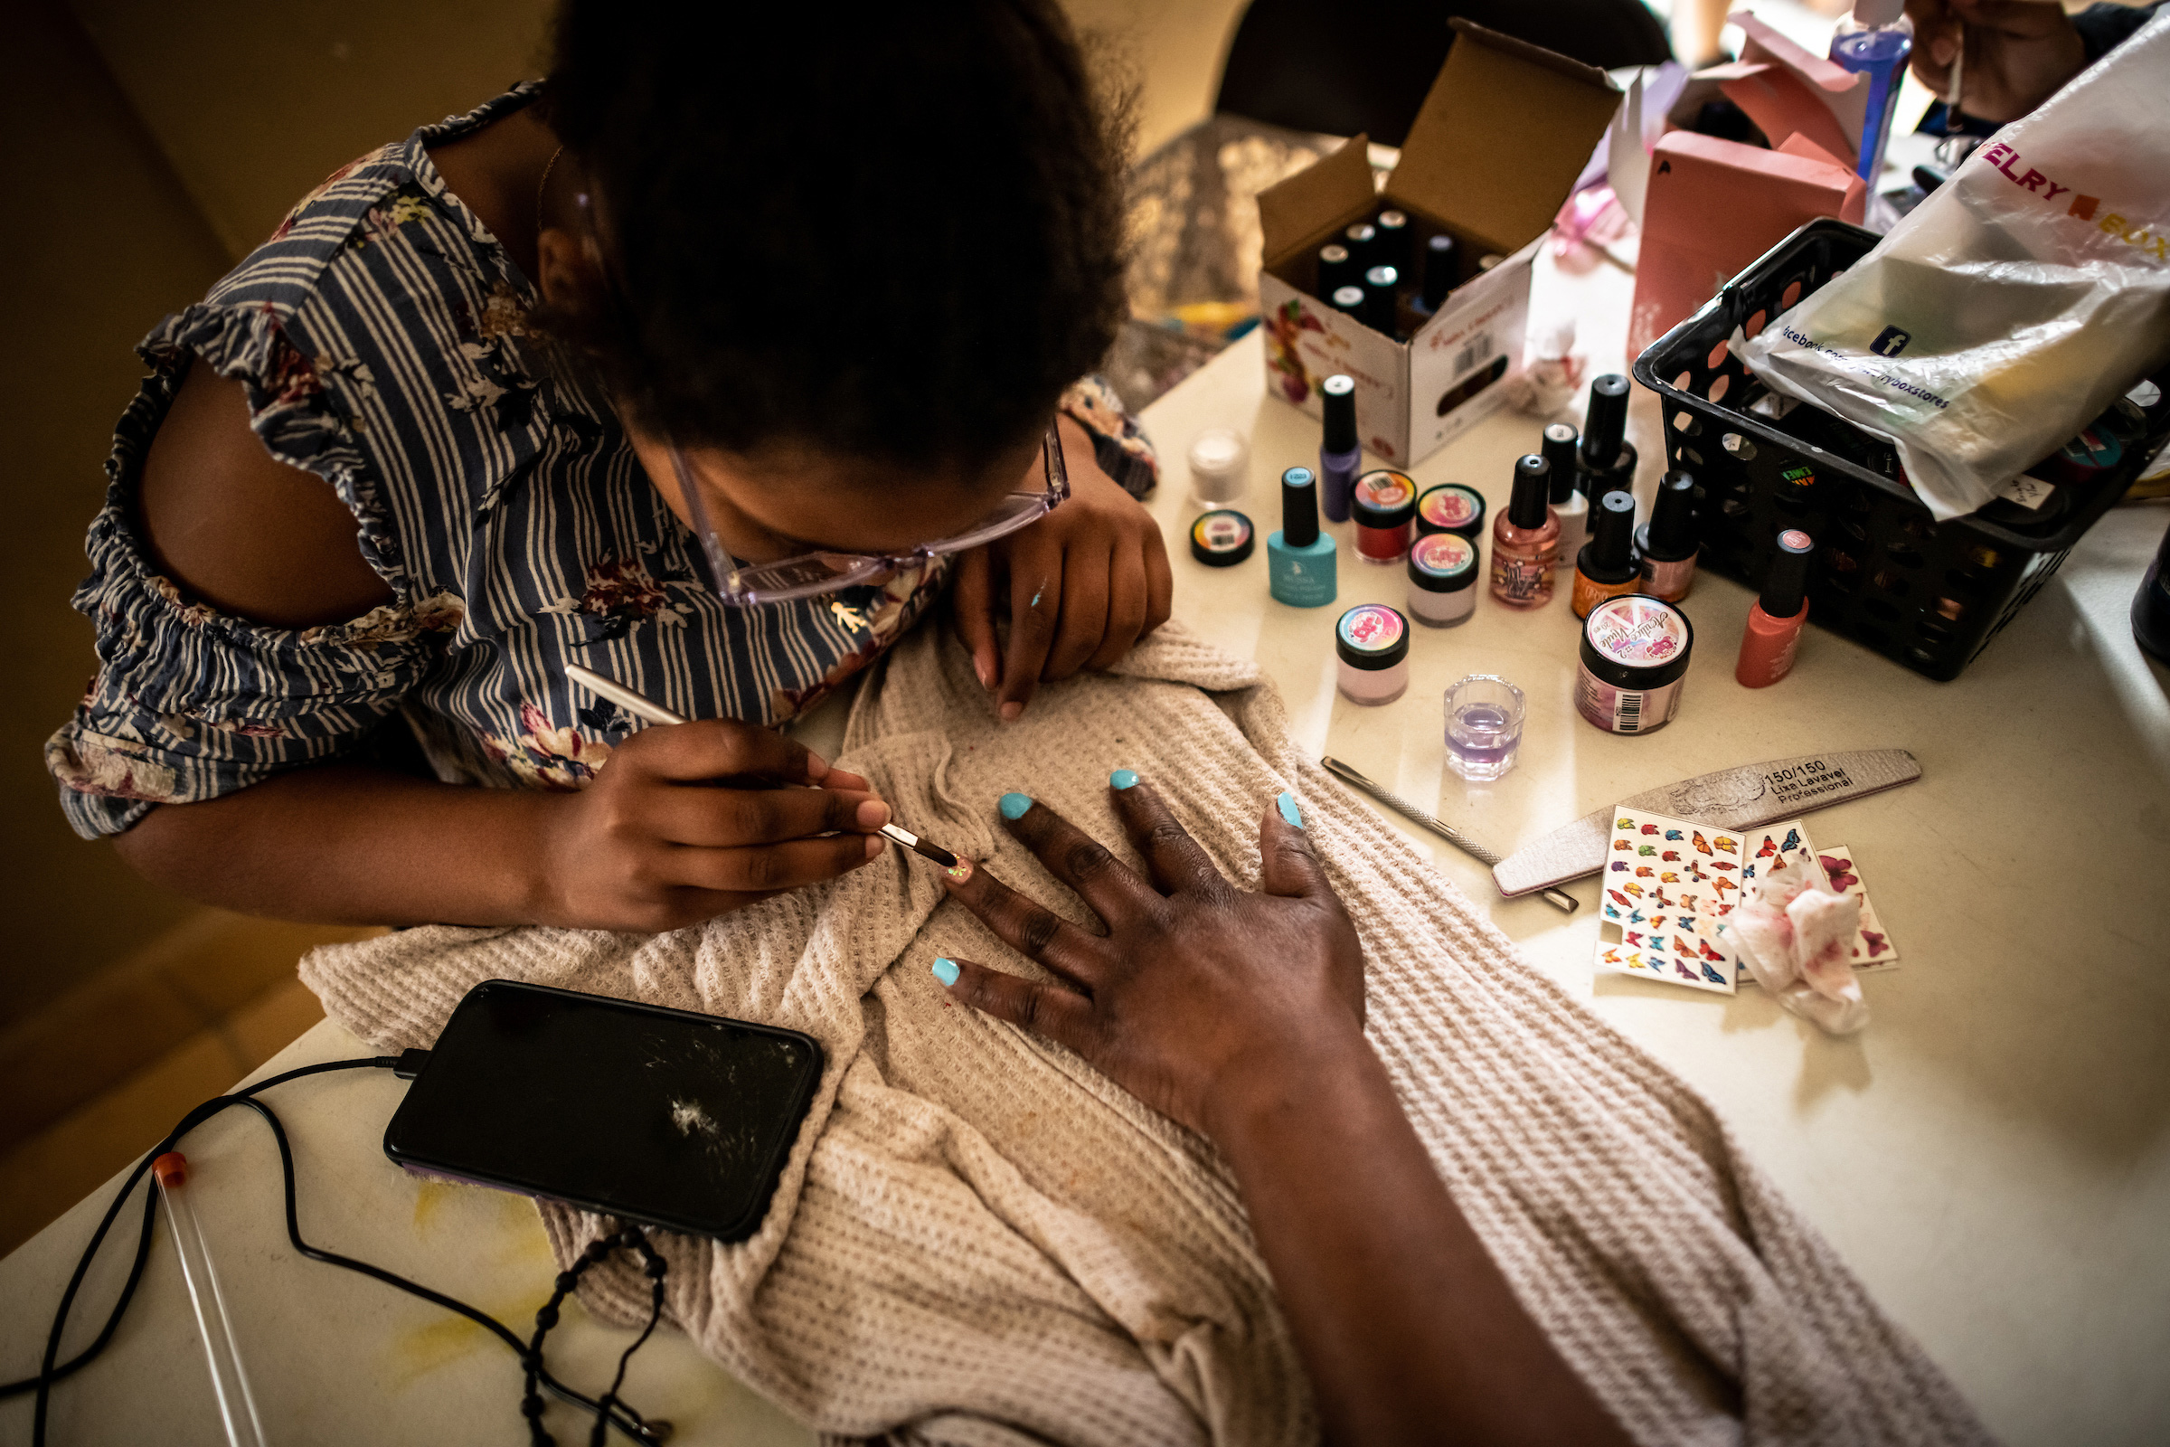
[[[1957,102],[1983,121],[2016,121],[2088,67],[2079,30],[2055,0],[1905,0],[1905,13],[1914,78],[1944,104],[1964,35]]]

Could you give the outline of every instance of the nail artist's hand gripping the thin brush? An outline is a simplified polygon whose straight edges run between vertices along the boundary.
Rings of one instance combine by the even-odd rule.
[[[710,718],[634,733],[547,818],[542,924],[664,931],[859,868],[890,805],[805,744]]]

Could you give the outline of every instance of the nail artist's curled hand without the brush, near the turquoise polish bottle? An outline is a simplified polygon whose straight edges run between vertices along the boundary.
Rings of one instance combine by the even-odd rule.
[[[1057,419],[1070,501],[1031,527],[957,560],[950,607],[979,681],[1016,718],[1042,683],[1107,668],[1167,623],[1174,575],[1161,525],[1100,471],[1092,436]],[[1031,486],[1037,484],[1033,464]],[[1007,653],[996,618],[1009,618]]]

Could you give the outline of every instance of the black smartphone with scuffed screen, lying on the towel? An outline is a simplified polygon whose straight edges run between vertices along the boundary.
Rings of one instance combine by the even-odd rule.
[[[744,1241],[820,1083],[812,1035],[484,981],[384,1128],[421,1174]]]

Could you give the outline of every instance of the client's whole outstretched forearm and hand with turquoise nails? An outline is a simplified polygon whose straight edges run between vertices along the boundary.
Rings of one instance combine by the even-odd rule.
[[[1625,1443],[1521,1308],[1363,1035],[1363,946],[1282,794],[1259,820],[1263,894],[1228,883],[1131,770],[1115,814],[1139,876],[1022,794],[1003,816],[1107,933],[972,870],[948,887],[1052,978],[942,959],[963,1002],[1046,1035],[1220,1145],[1324,1436]]]

